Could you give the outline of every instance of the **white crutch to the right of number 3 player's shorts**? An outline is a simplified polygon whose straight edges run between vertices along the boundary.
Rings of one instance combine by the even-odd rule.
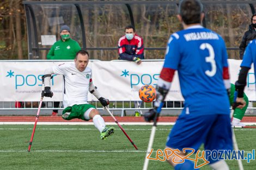
[[[234,94],[234,104],[232,106],[231,114],[230,114],[231,117],[233,117],[233,115],[234,115],[235,108],[238,105],[241,104],[241,103],[236,103],[236,97],[237,97],[237,91],[235,91],[235,94]],[[234,132],[234,128],[233,127],[232,127],[232,141],[233,141],[234,149],[235,149],[235,152],[236,152],[236,155],[237,155],[238,154],[238,145],[237,145],[237,142],[236,142],[235,132]],[[239,170],[243,170],[242,160],[241,159],[237,159],[237,162],[238,162],[238,165],[239,165]]]

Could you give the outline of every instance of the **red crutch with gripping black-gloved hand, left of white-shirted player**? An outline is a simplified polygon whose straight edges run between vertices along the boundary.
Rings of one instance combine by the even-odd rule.
[[[40,99],[40,104],[39,104],[39,107],[38,107],[38,112],[35,116],[35,124],[34,124],[34,128],[33,128],[33,131],[32,131],[32,134],[31,134],[31,140],[29,141],[29,146],[28,146],[28,152],[30,152],[31,150],[31,145],[32,145],[32,141],[33,141],[33,137],[34,137],[34,133],[35,133],[35,127],[36,127],[36,123],[38,122],[38,118],[39,118],[39,112],[40,112],[40,109],[41,109],[41,105],[42,105],[42,99],[44,98],[44,96],[46,97],[52,97],[53,96],[53,93],[51,92],[50,89],[45,89],[45,85],[44,85],[44,78],[45,77],[51,77],[50,74],[47,74],[47,75],[43,75],[42,76],[42,93],[41,93],[41,99]],[[52,78],[52,77],[51,77]],[[45,95],[45,93],[50,93],[50,96],[47,96]]]

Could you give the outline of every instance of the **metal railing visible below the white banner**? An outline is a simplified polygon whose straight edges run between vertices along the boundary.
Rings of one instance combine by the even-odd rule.
[[[57,102],[57,101],[54,101]],[[109,104],[109,110],[114,112],[115,115],[118,116],[133,116],[135,111],[143,112],[153,108],[153,103],[143,103],[141,106],[135,105],[134,103],[137,101],[111,101]],[[181,110],[184,108],[184,101],[165,101],[164,106],[162,108],[161,115],[163,116],[178,116]],[[248,105],[246,115],[256,115],[256,107],[253,106],[253,103],[256,101],[249,101],[251,104]],[[99,101],[88,102],[96,106],[96,109],[99,110],[102,114],[104,113],[103,107]],[[19,115],[27,115],[26,111],[34,112],[38,109],[39,102],[22,102],[20,108],[17,107],[17,102],[0,102],[0,115],[9,115],[9,111],[22,112],[23,114]],[[47,111],[51,113],[51,110],[60,110],[62,111],[63,105],[60,101],[60,105],[58,108],[53,107],[53,102],[43,102],[41,110]]]

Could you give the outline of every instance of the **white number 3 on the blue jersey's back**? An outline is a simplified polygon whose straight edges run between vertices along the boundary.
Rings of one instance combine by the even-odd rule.
[[[209,77],[212,77],[216,74],[216,62],[214,60],[214,57],[215,57],[214,48],[212,48],[212,46],[209,43],[202,43],[202,45],[200,45],[200,49],[204,50],[205,48],[208,49],[209,55],[210,55],[210,56],[205,57],[205,61],[210,62],[210,64],[211,64],[211,71],[206,70],[205,74],[208,75]]]

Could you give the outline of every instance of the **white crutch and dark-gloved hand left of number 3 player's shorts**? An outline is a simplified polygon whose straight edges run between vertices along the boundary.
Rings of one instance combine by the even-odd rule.
[[[144,114],[145,121],[150,122],[151,120],[153,120],[154,124],[153,124],[153,127],[151,129],[151,134],[150,134],[150,137],[149,137],[149,144],[148,144],[148,149],[147,149],[147,153],[146,153],[145,160],[144,160],[143,170],[148,169],[149,159],[147,158],[147,156],[150,154],[150,151],[151,151],[152,146],[153,146],[155,133],[156,133],[157,117],[159,116],[159,114],[161,112],[162,106],[163,106],[163,102],[160,104],[160,106],[157,109],[150,109],[149,112],[146,112]]]

